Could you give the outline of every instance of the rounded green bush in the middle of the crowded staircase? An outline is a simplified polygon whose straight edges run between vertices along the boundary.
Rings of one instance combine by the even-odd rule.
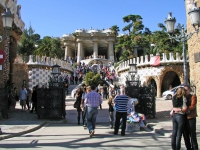
[[[95,85],[98,86],[102,83],[102,79],[100,74],[95,74],[94,72],[88,72],[85,75],[85,84],[88,85]]]

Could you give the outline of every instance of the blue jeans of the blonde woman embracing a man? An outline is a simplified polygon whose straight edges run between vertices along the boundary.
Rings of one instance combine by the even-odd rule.
[[[173,116],[173,132],[171,139],[171,146],[173,150],[181,149],[181,137],[185,124],[185,115],[183,114],[174,114]]]

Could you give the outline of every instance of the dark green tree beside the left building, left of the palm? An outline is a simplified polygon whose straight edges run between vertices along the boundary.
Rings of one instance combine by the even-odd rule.
[[[21,55],[32,55],[35,50],[35,44],[40,40],[39,34],[34,34],[33,28],[25,29],[18,45],[18,53]]]

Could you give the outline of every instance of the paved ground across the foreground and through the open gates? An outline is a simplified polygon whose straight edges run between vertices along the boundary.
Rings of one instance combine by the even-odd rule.
[[[97,128],[92,138],[89,137],[88,130],[77,125],[77,112],[73,108],[73,103],[74,99],[66,99],[66,120],[52,121],[37,119],[36,114],[28,111],[22,112],[17,104],[17,109],[10,113],[10,118],[0,122],[4,132],[1,135],[1,149],[171,149],[172,126],[169,116],[171,101],[169,100],[156,100],[156,118],[147,118],[147,125],[152,130],[142,128],[138,132],[127,132],[125,137],[113,135],[113,129],[109,128],[106,100],[103,101],[103,109],[99,110]],[[200,143],[199,122],[197,134]],[[6,139],[3,139],[3,136]],[[184,148],[183,141],[182,147]]]

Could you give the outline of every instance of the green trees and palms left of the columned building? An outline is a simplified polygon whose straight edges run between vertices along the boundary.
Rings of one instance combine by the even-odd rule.
[[[43,39],[40,39],[40,35],[35,34],[35,31],[31,26],[29,29],[25,29],[22,34],[20,44],[18,45],[18,53],[23,56],[40,55],[57,57],[59,59],[64,56],[60,38],[45,36]]]

